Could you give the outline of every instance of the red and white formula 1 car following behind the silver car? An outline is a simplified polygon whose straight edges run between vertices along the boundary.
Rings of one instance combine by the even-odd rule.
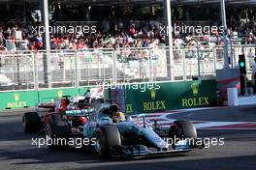
[[[67,116],[67,111],[80,110],[82,114]],[[22,124],[25,132],[44,132],[46,129],[54,132],[54,125],[58,119],[67,119],[68,124],[63,125],[63,128],[75,129],[87,122],[87,115],[94,112],[89,99],[85,97],[64,96],[62,99],[55,99],[51,103],[40,103],[34,112],[23,114]],[[72,132],[72,131],[71,131]]]

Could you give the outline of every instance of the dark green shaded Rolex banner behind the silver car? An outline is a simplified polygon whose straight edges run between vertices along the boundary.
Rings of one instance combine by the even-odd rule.
[[[126,113],[150,113],[173,109],[217,105],[215,80],[167,82],[155,84],[144,92],[125,90]]]

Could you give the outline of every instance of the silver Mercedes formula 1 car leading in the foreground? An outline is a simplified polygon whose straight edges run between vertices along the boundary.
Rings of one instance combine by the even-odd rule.
[[[79,116],[82,113],[72,110],[66,114]],[[191,122],[176,121],[170,128],[161,128],[156,121],[153,124],[146,121],[144,116],[125,117],[116,105],[105,105],[88,115],[87,123],[77,132],[79,136],[93,141],[87,148],[93,149],[100,156],[168,155],[204,148],[204,144],[197,144],[197,131]],[[67,130],[69,124],[65,117],[57,121],[54,126],[58,131]],[[61,128],[63,125],[65,128]],[[62,131],[61,134],[67,133]],[[61,134],[54,136],[61,137]]]

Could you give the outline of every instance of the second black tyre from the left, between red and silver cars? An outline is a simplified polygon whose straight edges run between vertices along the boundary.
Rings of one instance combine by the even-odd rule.
[[[71,128],[61,114],[52,114],[50,116],[45,131],[48,149],[59,150],[68,147]]]

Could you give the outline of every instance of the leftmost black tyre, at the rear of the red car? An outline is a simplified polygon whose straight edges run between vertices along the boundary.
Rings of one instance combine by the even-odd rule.
[[[22,116],[22,125],[26,133],[38,132],[41,127],[41,119],[37,112],[27,112]]]

